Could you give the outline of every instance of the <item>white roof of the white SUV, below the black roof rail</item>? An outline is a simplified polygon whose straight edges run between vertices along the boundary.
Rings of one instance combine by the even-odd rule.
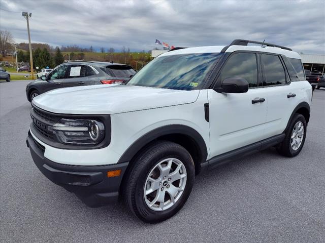
[[[159,57],[179,55],[179,54],[191,54],[191,53],[219,53],[225,46],[208,46],[208,47],[191,47],[179,49],[172,52],[167,52],[159,55]],[[288,51],[278,47],[261,47],[261,46],[229,46],[225,52],[235,52],[235,51],[255,51],[255,52],[269,52],[275,54],[285,55],[288,58],[301,59],[297,52]]]

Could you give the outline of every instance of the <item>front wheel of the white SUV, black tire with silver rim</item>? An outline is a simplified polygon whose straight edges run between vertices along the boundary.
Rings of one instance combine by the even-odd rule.
[[[169,161],[171,169],[167,168]],[[181,164],[177,164],[179,161]],[[170,141],[158,141],[140,153],[130,166],[123,179],[122,190],[125,204],[135,216],[147,223],[157,223],[174,216],[183,207],[192,190],[195,176],[193,159],[185,148]],[[164,173],[159,168],[165,168]],[[172,175],[173,172],[175,175]],[[173,182],[176,178],[173,176],[176,175],[181,179]],[[150,182],[149,177],[156,181]],[[157,189],[152,190],[151,187]],[[147,188],[152,192],[145,195],[145,190],[149,191]],[[172,191],[175,192],[174,202]],[[150,207],[151,203],[153,205]]]

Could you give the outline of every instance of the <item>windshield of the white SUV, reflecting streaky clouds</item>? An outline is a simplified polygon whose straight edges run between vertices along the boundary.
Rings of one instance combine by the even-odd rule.
[[[200,88],[220,53],[194,53],[157,57],[126,85],[193,90]]]

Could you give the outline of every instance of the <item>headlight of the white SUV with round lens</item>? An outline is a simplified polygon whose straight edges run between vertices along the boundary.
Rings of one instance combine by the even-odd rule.
[[[104,124],[98,120],[63,118],[48,129],[66,144],[96,145],[105,137]]]

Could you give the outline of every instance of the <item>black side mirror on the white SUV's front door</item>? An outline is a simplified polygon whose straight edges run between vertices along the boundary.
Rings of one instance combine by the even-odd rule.
[[[222,81],[221,88],[215,88],[220,93],[246,93],[248,91],[248,82],[242,77],[229,77]]]

